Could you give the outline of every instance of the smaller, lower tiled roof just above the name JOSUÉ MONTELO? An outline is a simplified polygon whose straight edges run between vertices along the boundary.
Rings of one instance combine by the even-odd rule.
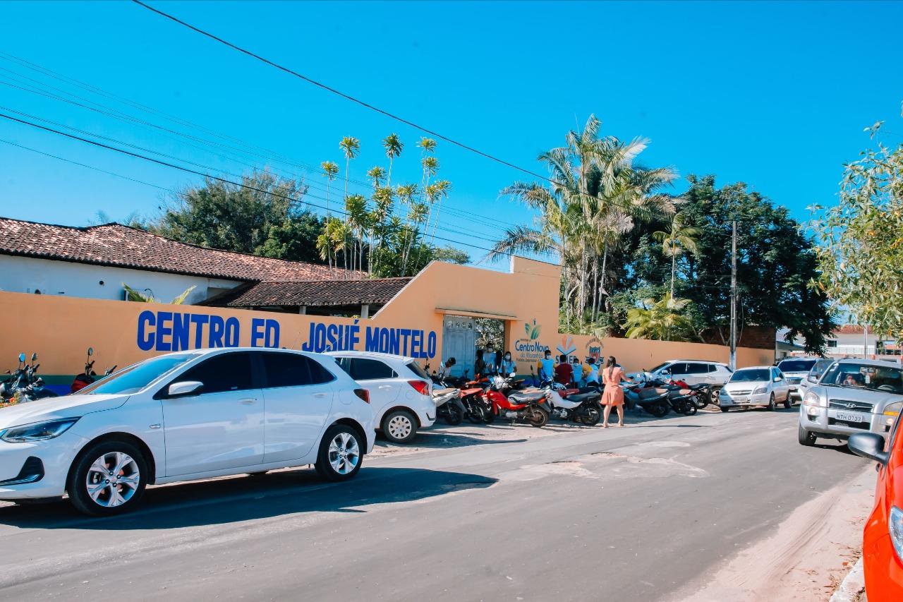
[[[388,303],[411,277],[371,280],[256,282],[213,296],[200,305],[217,307],[359,306]]]

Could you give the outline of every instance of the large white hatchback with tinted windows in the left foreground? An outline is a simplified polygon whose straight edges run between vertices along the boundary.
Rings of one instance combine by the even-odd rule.
[[[373,449],[367,390],[317,353],[168,353],[78,393],[0,409],[0,500],[69,494],[96,516],[148,484],[312,464],[357,475]]]

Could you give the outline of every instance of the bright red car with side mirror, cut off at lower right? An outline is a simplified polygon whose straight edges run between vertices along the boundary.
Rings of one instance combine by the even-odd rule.
[[[875,507],[862,531],[862,569],[869,602],[903,600],[903,437],[900,419],[887,443],[874,433],[850,437],[850,449],[878,462]]]

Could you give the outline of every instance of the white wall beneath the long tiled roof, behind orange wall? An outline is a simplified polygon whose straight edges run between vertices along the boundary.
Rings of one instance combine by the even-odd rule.
[[[121,300],[123,282],[139,291],[150,288],[156,298],[164,301],[174,299],[182,295],[186,288],[194,286],[186,300],[188,304],[206,299],[211,287],[232,288],[238,284],[235,280],[0,255],[0,290],[9,292],[34,293],[40,290],[42,295]]]

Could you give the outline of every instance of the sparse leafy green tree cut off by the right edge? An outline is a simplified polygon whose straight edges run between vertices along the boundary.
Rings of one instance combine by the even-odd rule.
[[[879,144],[846,165],[838,204],[815,211],[813,290],[875,332],[903,337],[903,145]]]

